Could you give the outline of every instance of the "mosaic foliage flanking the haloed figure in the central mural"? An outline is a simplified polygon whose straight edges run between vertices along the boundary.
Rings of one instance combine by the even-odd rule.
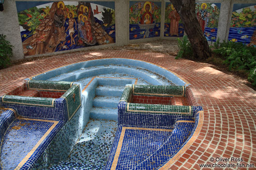
[[[144,13],[143,7],[145,2],[137,2],[133,4],[129,9],[129,23],[138,24]],[[159,8],[154,2],[151,2],[151,13],[153,14],[153,20],[155,23],[161,22],[161,8]]]

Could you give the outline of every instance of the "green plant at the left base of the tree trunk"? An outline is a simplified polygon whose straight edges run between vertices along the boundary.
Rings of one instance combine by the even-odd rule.
[[[180,51],[178,52],[175,59],[178,58],[193,58],[194,53],[190,44],[190,41],[188,40],[187,36],[184,36],[183,39],[178,38],[178,47]]]

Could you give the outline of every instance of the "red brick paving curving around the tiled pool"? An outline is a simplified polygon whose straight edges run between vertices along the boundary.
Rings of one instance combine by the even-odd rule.
[[[23,85],[24,78],[59,66],[100,58],[150,62],[169,69],[191,84],[194,105],[202,105],[204,109],[203,125],[195,142],[171,165],[171,170],[199,170],[199,164],[204,163],[230,164],[231,157],[242,158],[241,162],[232,161],[235,165],[244,163],[256,167],[256,92],[227,74],[193,61],[128,50],[62,54],[0,70],[0,95]],[[218,157],[229,158],[229,161],[217,162],[215,158]]]

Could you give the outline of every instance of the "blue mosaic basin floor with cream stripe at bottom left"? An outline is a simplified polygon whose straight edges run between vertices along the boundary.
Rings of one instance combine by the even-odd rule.
[[[1,165],[3,169],[13,170],[23,159],[26,163],[20,165],[20,170],[31,168],[62,125],[63,122],[58,121],[15,119],[7,129],[2,141]],[[50,128],[53,129],[48,131]],[[46,133],[47,131],[49,134]],[[43,141],[38,143],[40,139]],[[39,144],[38,147],[36,144]],[[31,156],[25,158],[32,148],[35,151],[31,152]]]

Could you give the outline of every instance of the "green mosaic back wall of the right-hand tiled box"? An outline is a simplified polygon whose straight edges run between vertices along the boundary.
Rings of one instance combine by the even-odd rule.
[[[166,94],[165,96],[184,96],[186,92],[185,86],[162,86],[162,85],[133,85],[133,94],[154,95]],[[159,95],[162,96],[162,95]]]

